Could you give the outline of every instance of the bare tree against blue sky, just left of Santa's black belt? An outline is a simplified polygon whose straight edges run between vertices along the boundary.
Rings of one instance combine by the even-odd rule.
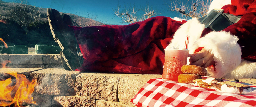
[[[168,11],[181,13],[181,18],[201,18],[207,15],[211,0],[164,0]]]

